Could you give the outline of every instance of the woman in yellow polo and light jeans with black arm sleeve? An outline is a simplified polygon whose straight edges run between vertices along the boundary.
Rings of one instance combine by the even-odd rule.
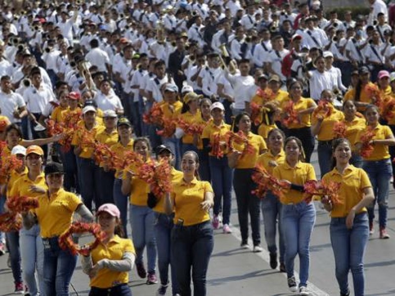
[[[314,167],[302,162],[302,142],[295,137],[289,137],[284,142],[285,162],[276,166],[273,175],[287,182],[289,189],[280,199],[282,203],[282,229],[285,240],[285,269],[289,290],[298,291],[294,276],[294,260],[299,255],[299,295],[310,295],[307,280],[310,268],[310,237],[316,221],[316,209],[313,203],[303,200],[303,185],[310,180],[316,180]]]

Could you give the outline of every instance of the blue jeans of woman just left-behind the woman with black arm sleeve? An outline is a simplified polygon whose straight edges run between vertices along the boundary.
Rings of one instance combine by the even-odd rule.
[[[280,250],[280,262],[284,262],[284,234],[281,226],[282,204],[271,192],[268,192],[261,201],[263,225],[265,227],[265,239],[270,253],[277,253],[276,246],[276,224],[278,219],[278,244]]]

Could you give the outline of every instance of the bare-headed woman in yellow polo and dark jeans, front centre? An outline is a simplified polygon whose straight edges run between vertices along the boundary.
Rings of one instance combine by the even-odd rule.
[[[173,192],[164,200],[167,215],[174,211],[171,252],[174,259],[180,295],[206,295],[208,262],[214,247],[209,210],[213,206],[210,183],[198,181],[199,159],[195,151],[187,151],[181,160],[183,178],[173,184]]]

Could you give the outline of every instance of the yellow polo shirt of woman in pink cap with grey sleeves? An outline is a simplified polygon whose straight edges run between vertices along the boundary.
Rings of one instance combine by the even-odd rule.
[[[99,244],[92,250],[91,256],[93,265],[101,259],[121,260],[126,252],[136,254],[132,241],[115,235],[107,245]],[[89,286],[105,289],[120,284],[127,284],[128,282],[129,272],[102,268],[98,271],[97,275],[90,280]]]

